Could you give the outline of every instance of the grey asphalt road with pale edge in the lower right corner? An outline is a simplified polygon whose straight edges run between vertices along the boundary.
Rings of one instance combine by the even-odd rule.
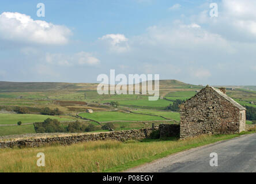
[[[212,152],[217,153],[218,166],[210,166]],[[256,133],[179,152],[125,172],[256,172]]]

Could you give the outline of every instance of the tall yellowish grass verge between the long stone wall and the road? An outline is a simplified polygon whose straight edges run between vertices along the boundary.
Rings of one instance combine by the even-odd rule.
[[[5,148],[0,152],[0,172],[118,172],[155,159],[239,135],[199,136],[186,140],[89,141],[68,146]],[[37,167],[37,153],[46,156],[46,166]]]

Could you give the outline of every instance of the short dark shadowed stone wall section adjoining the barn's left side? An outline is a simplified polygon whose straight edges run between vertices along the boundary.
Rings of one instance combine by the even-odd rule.
[[[180,125],[178,124],[160,124],[160,138],[163,137],[179,137]]]

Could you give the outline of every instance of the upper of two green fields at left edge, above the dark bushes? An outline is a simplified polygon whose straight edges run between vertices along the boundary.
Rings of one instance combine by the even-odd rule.
[[[72,121],[58,116],[46,116],[40,114],[0,114],[0,124],[17,124],[18,121],[21,121],[22,123],[42,122],[47,118],[57,119],[59,121]]]

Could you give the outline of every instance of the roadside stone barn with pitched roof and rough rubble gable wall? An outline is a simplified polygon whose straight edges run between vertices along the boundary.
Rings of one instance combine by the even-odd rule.
[[[206,86],[180,105],[180,138],[245,131],[246,108],[228,97],[225,88]]]

